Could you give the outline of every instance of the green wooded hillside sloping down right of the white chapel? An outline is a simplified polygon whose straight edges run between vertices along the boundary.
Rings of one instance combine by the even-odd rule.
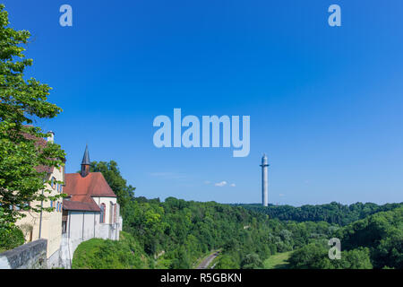
[[[147,258],[148,267],[192,268],[211,250],[221,249],[217,268],[259,268],[271,255],[327,239],[337,228],[327,222],[270,220],[262,213],[214,202],[169,197],[161,203],[133,197],[131,208],[124,214],[124,238],[130,235],[135,250],[127,248],[125,239],[122,243],[91,239],[77,248],[73,267],[105,267],[96,264],[97,256],[99,260],[111,257],[107,262],[120,260],[116,265],[124,268],[147,267],[127,263],[127,250],[131,249],[135,257]],[[115,251],[99,251],[106,246]]]

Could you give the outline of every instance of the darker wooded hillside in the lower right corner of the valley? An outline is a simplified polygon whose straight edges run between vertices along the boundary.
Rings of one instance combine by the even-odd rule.
[[[308,244],[293,252],[290,268],[369,269],[403,268],[403,208],[370,215],[333,234],[341,241],[341,260],[327,257],[324,241]]]

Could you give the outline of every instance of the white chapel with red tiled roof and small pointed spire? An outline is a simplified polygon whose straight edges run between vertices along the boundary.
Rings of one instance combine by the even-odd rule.
[[[61,263],[70,268],[74,250],[92,238],[119,239],[122,217],[116,195],[100,172],[90,172],[90,156],[85,148],[80,173],[65,174]]]

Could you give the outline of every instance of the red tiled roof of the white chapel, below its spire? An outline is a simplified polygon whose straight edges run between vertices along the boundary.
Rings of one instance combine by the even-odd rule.
[[[66,210],[99,211],[92,196],[116,197],[100,172],[90,172],[84,178],[80,173],[66,173],[64,193],[70,196],[63,201]]]

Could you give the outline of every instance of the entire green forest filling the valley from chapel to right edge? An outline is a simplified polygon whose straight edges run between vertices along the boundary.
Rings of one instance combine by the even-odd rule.
[[[290,251],[290,268],[403,268],[402,204],[160,202],[135,197],[115,161],[94,161],[91,171],[116,191],[124,231],[119,241],[81,243],[73,268],[194,268],[214,250],[215,268],[263,268],[267,258]],[[333,237],[341,239],[341,260],[328,257]]]

